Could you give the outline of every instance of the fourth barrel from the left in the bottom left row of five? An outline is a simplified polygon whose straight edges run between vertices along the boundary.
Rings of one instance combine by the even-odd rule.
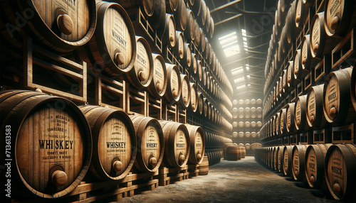
[[[187,126],[173,121],[159,121],[164,135],[164,164],[182,168],[187,164],[190,138]]]

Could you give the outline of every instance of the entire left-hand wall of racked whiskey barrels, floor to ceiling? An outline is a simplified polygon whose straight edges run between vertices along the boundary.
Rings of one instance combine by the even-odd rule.
[[[0,45],[14,48],[0,53],[8,64],[1,69],[2,87],[35,89],[28,84],[39,83],[36,91],[0,92],[1,115],[6,115],[1,130],[12,133],[0,143],[11,145],[11,177],[19,193],[63,197],[82,181],[197,165],[204,154],[209,163],[219,163],[224,143],[231,142],[226,137],[231,136],[233,88],[209,44],[214,20],[204,0],[1,1],[1,13],[7,26]],[[141,17],[147,30],[139,25]],[[161,49],[152,36],[162,40]],[[23,74],[26,64],[11,65],[23,57],[38,70]],[[51,64],[53,59],[63,64]],[[84,82],[78,85],[80,79]],[[46,94],[41,87],[47,87]],[[122,101],[135,97],[130,91],[147,95],[147,103],[178,106],[189,124],[197,118],[207,122],[158,121],[149,104],[134,114],[135,102]],[[84,99],[74,103],[67,93]],[[110,107],[100,106],[104,101]],[[167,113],[160,111],[161,117]],[[206,124],[209,133],[204,133]]]

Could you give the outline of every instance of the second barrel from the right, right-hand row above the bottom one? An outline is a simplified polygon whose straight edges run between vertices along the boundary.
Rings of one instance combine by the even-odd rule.
[[[313,128],[325,128],[328,122],[323,111],[324,84],[310,87],[307,94],[307,122]]]

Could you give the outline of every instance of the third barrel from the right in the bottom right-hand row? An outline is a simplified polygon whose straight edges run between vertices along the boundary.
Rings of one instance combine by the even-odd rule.
[[[296,145],[292,150],[292,175],[296,181],[305,179],[305,150],[308,146]]]

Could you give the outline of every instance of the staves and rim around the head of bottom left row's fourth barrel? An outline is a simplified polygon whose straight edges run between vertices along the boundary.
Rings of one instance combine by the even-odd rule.
[[[190,140],[187,126],[185,126],[184,124],[176,123],[174,121],[159,121],[159,124],[162,126],[162,131],[164,135],[164,164],[167,164],[174,168],[184,167],[184,165],[186,165],[189,160],[190,153]],[[174,132],[177,132],[178,130],[183,131],[187,140],[187,153],[184,157],[184,162],[182,163],[177,163],[174,157],[174,152],[172,152],[172,149],[174,149]]]

